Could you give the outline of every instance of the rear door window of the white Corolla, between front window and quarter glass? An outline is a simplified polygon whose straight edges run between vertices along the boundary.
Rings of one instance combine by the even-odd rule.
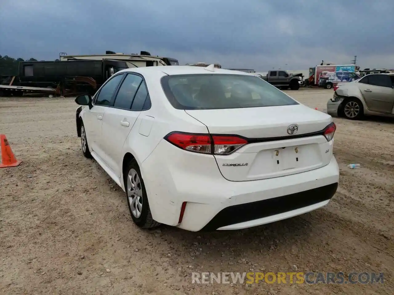
[[[115,98],[114,107],[130,110],[134,96],[141,84],[142,78],[138,75],[127,74]]]

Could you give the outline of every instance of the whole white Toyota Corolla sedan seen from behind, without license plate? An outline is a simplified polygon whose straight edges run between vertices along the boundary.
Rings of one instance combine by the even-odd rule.
[[[130,68],[75,101],[82,152],[126,192],[139,227],[243,229],[336,192],[331,116],[253,74]]]

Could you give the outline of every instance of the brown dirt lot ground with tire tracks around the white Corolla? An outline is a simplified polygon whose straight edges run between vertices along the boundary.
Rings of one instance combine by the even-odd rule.
[[[288,93],[323,111],[333,90]],[[0,133],[23,160],[0,170],[1,294],[394,293],[393,120],[334,119],[341,177],[325,208],[241,231],[144,231],[121,189],[83,157],[76,107],[0,99]],[[191,284],[193,271],[383,272],[385,284]]]

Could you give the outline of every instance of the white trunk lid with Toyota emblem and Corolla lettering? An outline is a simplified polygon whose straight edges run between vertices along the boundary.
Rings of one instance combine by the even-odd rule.
[[[323,130],[332,118],[305,105],[185,112],[205,124],[210,134],[250,139],[251,143],[230,155],[215,155],[223,177],[230,181],[301,173],[331,161],[333,141],[327,142],[323,135],[309,134]],[[293,124],[298,131],[289,135],[287,129]]]

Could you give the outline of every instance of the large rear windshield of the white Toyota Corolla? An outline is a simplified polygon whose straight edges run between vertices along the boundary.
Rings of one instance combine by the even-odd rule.
[[[239,109],[297,105],[275,86],[256,76],[236,74],[170,75],[161,79],[175,109]]]

